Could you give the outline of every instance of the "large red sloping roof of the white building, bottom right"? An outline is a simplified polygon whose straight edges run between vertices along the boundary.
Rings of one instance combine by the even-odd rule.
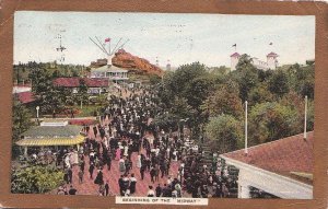
[[[248,154],[243,150],[229,152],[222,156],[230,158],[256,167],[295,178],[292,172],[313,173],[314,164],[314,131],[279,139],[248,148]]]

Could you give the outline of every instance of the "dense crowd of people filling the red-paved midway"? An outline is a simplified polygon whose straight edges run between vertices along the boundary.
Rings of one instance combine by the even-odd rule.
[[[145,175],[151,179],[144,194],[149,197],[231,197],[236,193],[237,179],[230,176],[216,153],[208,165],[201,146],[195,146],[188,135],[164,131],[153,124],[154,117],[166,114],[155,102],[156,92],[121,90],[120,94],[125,96],[112,96],[102,109],[97,126],[84,127],[87,137],[79,150],[60,149],[55,158],[47,158],[48,163],[55,162],[65,171],[66,185],[58,188],[58,194],[79,194],[72,186],[74,166],[79,167],[79,184],[92,179],[101,196],[133,196]],[[113,161],[118,161],[119,194],[113,194],[108,179],[104,179]],[[173,163],[178,164],[178,171],[172,172]],[[140,172],[139,179],[132,167]]]

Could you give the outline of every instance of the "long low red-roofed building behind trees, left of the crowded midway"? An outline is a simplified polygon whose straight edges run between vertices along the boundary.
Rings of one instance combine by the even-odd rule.
[[[109,80],[105,78],[72,77],[72,78],[57,78],[52,81],[55,85],[72,89],[73,93],[78,93],[78,88],[81,85],[82,82],[84,82],[84,84],[87,86],[89,93],[99,94],[102,92],[107,92],[110,85]]]

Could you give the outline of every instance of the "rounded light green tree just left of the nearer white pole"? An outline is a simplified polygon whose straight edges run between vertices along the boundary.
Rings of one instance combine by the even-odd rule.
[[[231,152],[243,147],[242,124],[231,115],[219,115],[206,126],[207,137],[214,141],[220,153]]]

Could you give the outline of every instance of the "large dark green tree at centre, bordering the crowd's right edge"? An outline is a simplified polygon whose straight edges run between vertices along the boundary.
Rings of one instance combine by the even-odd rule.
[[[206,120],[201,105],[207,98],[213,84],[213,78],[207,71],[204,65],[194,62],[180,66],[174,72],[164,74],[163,82],[159,86],[160,101],[164,103],[164,108],[175,108],[176,97],[186,100],[186,106],[191,107],[190,124],[197,130],[198,126]],[[180,104],[179,104],[180,105]],[[179,117],[177,115],[177,117]]]

